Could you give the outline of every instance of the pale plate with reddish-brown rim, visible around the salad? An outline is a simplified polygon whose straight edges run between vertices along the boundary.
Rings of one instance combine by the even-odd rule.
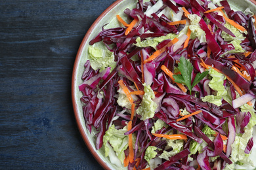
[[[256,11],[256,1],[254,0],[228,0],[228,2],[230,3],[231,8],[234,10],[245,10],[247,7],[249,7],[251,11]],[[95,20],[93,25],[91,25],[90,29],[87,31],[83,41],[81,42],[81,45],[79,46],[79,50],[77,52],[74,63],[74,70],[72,75],[72,103],[74,107],[75,119],[85,144],[87,144],[91,154],[93,154],[95,159],[104,169],[127,168],[116,167],[116,165],[110,163],[108,158],[105,158],[103,150],[96,150],[96,139],[94,137],[95,134],[90,134],[85,126],[82,110],[83,103],[80,101],[82,93],[79,91],[78,86],[83,82],[83,80],[81,80],[81,76],[83,75],[84,71],[84,63],[87,61],[89,41],[98,35],[98,33],[102,30],[103,25],[109,23],[104,28],[117,25],[116,15],[119,14],[120,16],[123,16],[123,11],[127,8],[133,9],[136,3],[136,0],[117,0],[110,7],[104,10],[104,12],[100,14],[100,16]]]

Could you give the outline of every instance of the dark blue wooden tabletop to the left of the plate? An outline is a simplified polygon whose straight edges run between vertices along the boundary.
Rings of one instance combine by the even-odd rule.
[[[115,0],[0,1],[0,169],[102,169],[77,129],[72,69]]]

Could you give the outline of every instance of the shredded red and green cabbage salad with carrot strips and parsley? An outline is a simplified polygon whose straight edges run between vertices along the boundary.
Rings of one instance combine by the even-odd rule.
[[[127,169],[255,169],[253,12],[138,0],[114,17],[79,85],[96,149]]]

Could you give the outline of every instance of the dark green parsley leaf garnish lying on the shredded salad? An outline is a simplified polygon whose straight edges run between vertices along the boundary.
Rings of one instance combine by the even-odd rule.
[[[192,88],[194,88],[194,86],[196,86],[196,84],[198,84],[209,73],[209,71],[204,71],[202,74],[198,73],[192,83],[191,74],[193,71],[193,65],[183,56],[180,58],[180,62],[178,63],[178,69],[181,71],[181,75],[173,75],[173,78],[175,78],[175,82],[186,85],[190,91],[190,94]]]

